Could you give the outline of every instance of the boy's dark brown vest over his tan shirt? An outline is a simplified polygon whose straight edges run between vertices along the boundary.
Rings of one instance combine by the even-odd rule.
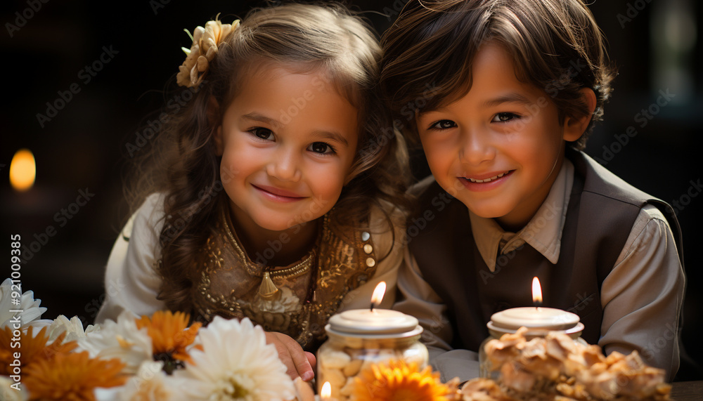
[[[574,186],[556,264],[524,244],[498,256],[491,272],[473,239],[466,206],[451,199],[443,209],[437,207],[442,192],[451,198],[437,182],[421,195],[420,213],[431,210],[435,217],[415,237],[408,229],[409,247],[423,277],[446,304],[453,348],[478,350],[489,336],[486,322],[493,313],[532,305],[534,276],[542,285],[543,305],[579,315],[586,327],[583,339],[598,343],[600,286],[645,204],[654,204],[669,220],[683,264],[681,230],[671,206],[628,185],[583,152],[567,150],[567,157],[574,164]]]

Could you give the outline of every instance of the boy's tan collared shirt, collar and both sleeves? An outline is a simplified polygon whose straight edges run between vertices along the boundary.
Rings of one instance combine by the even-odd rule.
[[[562,228],[574,183],[574,166],[565,159],[549,195],[529,223],[518,232],[505,232],[493,218],[470,211],[477,248],[491,272],[501,256],[523,244],[534,247],[550,262],[560,256]],[[666,218],[655,206],[638,214],[610,275],[602,283],[603,308],[598,345],[605,353],[638,350],[647,364],[666,369],[669,380],[678,370],[678,317],[683,304],[684,275]],[[452,350],[451,325],[446,307],[423,280],[415,258],[406,249],[398,287],[403,294],[394,309],[418,317],[430,359],[443,381],[478,376],[477,353]]]

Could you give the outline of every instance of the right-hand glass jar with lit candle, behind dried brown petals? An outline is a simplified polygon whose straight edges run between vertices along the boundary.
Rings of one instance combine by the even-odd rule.
[[[500,366],[493,366],[486,357],[486,343],[500,339],[503,334],[515,334],[520,327],[526,327],[525,338],[544,337],[550,331],[561,331],[574,341],[586,344],[581,338],[583,323],[579,315],[555,308],[510,308],[491,315],[486,324],[489,336],[479,347],[479,376],[485,379],[498,379]]]

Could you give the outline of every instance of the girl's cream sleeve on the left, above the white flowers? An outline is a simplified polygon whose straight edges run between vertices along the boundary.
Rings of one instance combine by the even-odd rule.
[[[156,299],[161,278],[154,270],[160,257],[158,238],[163,214],[162,196],[150,195],[120,232],[105,268],[105,300],[96,323],[117,320],[123,310],[152,315],[166,308]]]

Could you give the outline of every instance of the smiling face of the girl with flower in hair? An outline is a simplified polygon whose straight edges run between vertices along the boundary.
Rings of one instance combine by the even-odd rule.
[[[241,79],[215,133],[233,217],[280,231],[323,216],[349,178],[357,136],[356,107],[323,70],[262,64]]]

